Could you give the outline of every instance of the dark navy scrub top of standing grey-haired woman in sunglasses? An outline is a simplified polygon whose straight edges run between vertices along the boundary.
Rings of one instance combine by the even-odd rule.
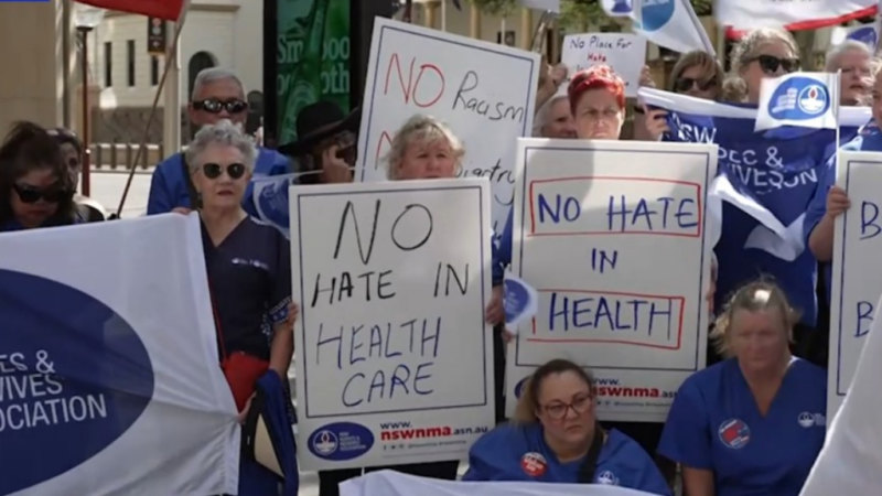
[[[272,326],[288,316],[291,249],[272,226],[254,217],[214,246],[202,225],[205,268],[227,354],[269,359]]]

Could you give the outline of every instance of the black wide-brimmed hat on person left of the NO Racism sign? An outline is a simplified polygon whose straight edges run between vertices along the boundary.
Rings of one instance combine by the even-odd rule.
[[[286,155],[302,155],[320,141],[340,131],[358,132],[362,109],[356,108],[348,116],[332,101],[316,101],[300,110],[297,116],[298,140],[282,144],[279,152]]]

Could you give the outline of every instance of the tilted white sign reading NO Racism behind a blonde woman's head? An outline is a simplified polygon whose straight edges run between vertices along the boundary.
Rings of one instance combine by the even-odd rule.
[[[493,227],[512,205],[518,137],[530,136],[539,54],[386,19],[374,22],[362,128],[359,181],[386,179],[395,132],[415,114],[448,123],[465,147],[460,176],[487,177]]]

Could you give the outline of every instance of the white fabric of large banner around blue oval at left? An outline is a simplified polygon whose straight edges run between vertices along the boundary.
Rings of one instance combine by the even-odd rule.
[[[135,331],[149,356],[150,365],[143,374],[149,377],[152,369],[153,375],[149,402],[111,443],[89,459],[77,461],[66,472],[13,494],[237,492],[239,425],[233,396],[217,365],[216,333],[196,214],[2,234],[0,270],[54,281],[112,310],[115,319],[121,319]],[[2,290],[14,294],[10,293],[14,289]],[[9,304],[6,308],[10,309]],[[89,312],[94,313],[93,310]],[[73,322],[87,317],[74,312],[42,319],[50,325],[57,319],[57,332],[62,332],[65,319]],[[96,356],[114,355],[117,343],[114,333],[121,332],[125,323],[105,323],[104,338],[96,341],[104,355],[96,353]],[[2,333],[14,334],[15,330],[2,328]],[[26,342],[21,335],[9,339],[4,343],[0,336],[0,354],[9,352],[7,345]],[[45,346],[58,349],[64,339],[64,335],[54,335]],[[138,374],[143,370],[138,364],[132,367],[139,367]],[[57,373],[64,376],[65,371]],[[96,385],[101,380],[89,370],[83,374],[97,377]],[[84,435],[104,430],[117,432],[119,427],[108,420],[83,423]],[[41,428],[30,429],[35,434]],[[18,432],[29,435],[26,430]],[[4,441],[4,433],[0,431],[0,445],[8,450],[11,446]],[[54,456],[52,446],[41,446],[43,453],[34,453],[26,446],[22,450],[20,453],[31,453],[35,459],[26,461],[22,456],[21,463],[39,464]],[[14,466],[2,466],[0,473],[8,475],[12,470]]]

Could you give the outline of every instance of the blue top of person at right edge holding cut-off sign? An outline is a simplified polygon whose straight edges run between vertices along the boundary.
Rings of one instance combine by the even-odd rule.
[[[858,136],[850,142],[842,145],[842,151],[882,151],[882,130],[875,125],[870,122],[861,128]],[[827,214],[827,192],[836,184],[836,157],[831,157],[827,162],[827,169],[824,176],[818,181],[818,187],[811,196],[806,211],[806,217],[803,223],[803,236],[808,250],[808,238],[811,231],[818,227],[818,224]],[[832,262],[819,262],[824,271],[824,283],[827,288],[827,303],[830,303],[832,295]]]

